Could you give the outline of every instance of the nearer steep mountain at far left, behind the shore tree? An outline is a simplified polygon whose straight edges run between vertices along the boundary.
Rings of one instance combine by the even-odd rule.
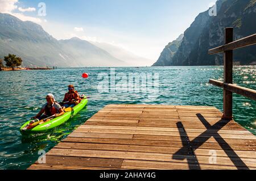
[[[9,53],[22,57],[24,66],[68,66],[59,56],[65,54],[59,42],[41,26],[0,14],[0,56],[3,58]]]

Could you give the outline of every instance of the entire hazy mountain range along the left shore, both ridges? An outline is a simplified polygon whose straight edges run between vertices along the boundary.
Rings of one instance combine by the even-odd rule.
[[[127,66],[88,41],[58,41],[36,23],[0,13],[0,58],[9,53],[21,57],[26,67]]]

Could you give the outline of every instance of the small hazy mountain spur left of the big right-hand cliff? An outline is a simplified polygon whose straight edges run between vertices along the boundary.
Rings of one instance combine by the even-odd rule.
[[[172,57],[174,57],[175,53],[180,47],[180,44],[183,40],[184,35],[181,34],[176,40],[169,43],[160,54],[158,61],[155,62],[153,66],[164,66],[168,65],[169,62],[172,61]]]

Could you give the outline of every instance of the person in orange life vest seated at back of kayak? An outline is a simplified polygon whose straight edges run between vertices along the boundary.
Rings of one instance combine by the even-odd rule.
[[[74,107],[80,103],[79,93],[75,90],[73,85],[68,86],[68,92],[65,94],[63,99],[63,108]]]

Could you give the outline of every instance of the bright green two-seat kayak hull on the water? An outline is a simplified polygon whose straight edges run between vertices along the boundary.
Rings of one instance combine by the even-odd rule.
[[[65,123],[65,121],[69,120],[71,116],[75,116],[79,111],[81,111],[86,104],[88,103],[88,99],[82,99],[79,104],[77,104],[75,107],[73,107],[73,110],[71,112],[65,112],[63,116],[56,117],[55,119],[52,119],[50,121],[47,121],[46,123],[39,124],[36,127],[32,129],[27,129],[26,131],[23,130],[24,127],[26,127],[28,124],[30,124],[30,121],[27,121],[25,124],[20,127],[21,133],[42,133],[47,132],[49,129],[58,127],[59,125]]]

